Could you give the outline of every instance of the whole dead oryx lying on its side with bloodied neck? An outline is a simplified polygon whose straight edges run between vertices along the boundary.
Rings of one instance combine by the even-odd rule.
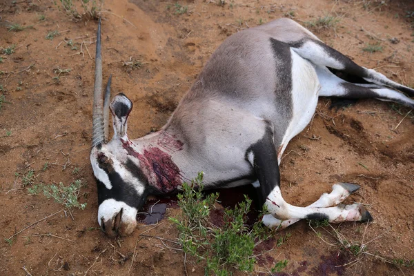
[[[290,19],[228,37],[210,57],[161,131],[130,140],[132,102],[102,95],[101,26],[97,31],[93,135],[90,162],[97,178],[98,221],[108,235],[128,235],[150,194],[176,193],[204,172],[206,188],[253,184],[271,215],[264,224],[286,227],[299,219],[366,221],[360,204],[337,206],[359,188],[335,184],[314,204],[284,201],[279,167],[295,135],[311,121],[319,96],[377,98],[414,108],[414,90],[355,64]],[[333,70],[358,77],[350,83]],[[108,116],[114,136],[108,141]]]

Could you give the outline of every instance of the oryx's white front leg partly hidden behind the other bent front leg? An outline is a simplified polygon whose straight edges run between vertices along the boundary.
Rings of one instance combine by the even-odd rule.
[[[307,207],[331,207],[340,204],[344,201],[349,195],[355,193],[359,189],[358,185],[355,184],[348,184],[348,183],[337,183],[333,184],[332,192],[327,194],[324,193],[319,197],[317,201]],[[278,228],[283,229],[292,224],[295,224],[300,219],[288,219],[288,220],[280,220],[273,215],[264,215],[263,217],[263,224],[268,226],[268,228]]]

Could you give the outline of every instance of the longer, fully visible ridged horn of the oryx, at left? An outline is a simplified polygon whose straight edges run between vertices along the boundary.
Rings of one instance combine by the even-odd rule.
[[[97,50],[95,55],[95,86],[93,89],[92,147],[104,141],[103,99],[102,99],[102,56],[101,56],[101,19],[97,30]]]

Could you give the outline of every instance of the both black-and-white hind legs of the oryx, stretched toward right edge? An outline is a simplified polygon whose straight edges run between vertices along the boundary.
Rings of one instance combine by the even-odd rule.
[[[413,99],[395,91],[400,90],[413,97],[414,90],[412,88],[391,81],[391,79],[373,69],[358,66],[357,63],[321,41],[307,39],[306,41],[295,43],[292,47],[299,56],[310,60],[316,65],[318,79],[322,86],[322,90],[319,92],[320,96],[355,99],[377,98],[383,101],[395,101],[404,106],[414,108]],[[326,67],[360,77],[370,83],[349,83],[331,73]]]

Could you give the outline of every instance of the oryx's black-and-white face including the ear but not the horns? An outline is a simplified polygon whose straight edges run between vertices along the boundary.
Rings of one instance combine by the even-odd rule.
[[[108,144],[98,144],[90,152],[90,164],[98,188],[98,222],[110,236],[128,235],[137,225],[136,216],[147,193],[146,177],[123,150],[127,120],[132,103],[125,95],[117,95],[111,105],[115,134]]]

